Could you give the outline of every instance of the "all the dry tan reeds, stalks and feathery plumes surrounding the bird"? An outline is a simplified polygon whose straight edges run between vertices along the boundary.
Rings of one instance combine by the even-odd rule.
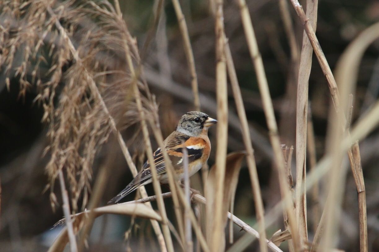
[[[244,90],[241,90],[238,83],[235,64],[241,63],[235,59],[233,61],[235,51],[228,42],[225,26],[225,19],[230,13],[227,12],[229,9],[225,8],[226,3],[222,0],[214,0],[209,6],[211,12],[209,15],[214,21],[211,25],[215,27],[215,34],[213,34],[215,43],[211,50],[215,54],[216,85],[208,87],[208,92],[215,93],[216,100],[208,99],[199,90],[201,87],[198,85],[197,71],[199,70],[196,70],[194,57],[196,51],[194,45],[191,45],[189,32],[191,28],[196,27],[187,24],[185,13],[189,11],[186,9],[188,6],[183,8],[183,14],[177,0],[173,0],[172,5],[182,34],[188,67],[181,71],[190,73],[191,89],[174,84],[172,76],[167,79],[161,78],[162,76],[154,72],[154,67],[145,69],[145,65],[139,58],[137,42],[128,31],[129,27],[122,17],[122,8],[118,1],[114,2],[114,6],[108,1],[66,1],[50,4],[45,0],[37,0],[22,3],[5,1],[0,4],[2,8],[0,66],[6,76],[6,86],[8,90],[13,88],[11,83],[14,83],[16,79],[19,83],[20,96],[25,96],[32,89],[36,90],[35,102],[44,109],[42,122],[48,126],[47,138],[49,140],[44,151],[49,158],[45,170],[49,177],[47,188],[50,189],[53,208],[56,206],[54,194],[56,179],[59,179],[61,187],[66,227],[50,247],[50,252],[63,251],[67,243],[70,244],[70,251],[83,250],[94,220],[104,214],[149,219],[161,251],[176,251],[179,246],[183,251],[194,251],[194,249],[224,251],[227,245],[225,227],[228,218],[230,219],[228,229],[230,246],[227,251],[243,251],[255,238],[258,238],[259,251],[262,252],[269,249],[276,252],[337,249],[335,239],[338,238],[341,227],[339,216],[343,211],[342,203],[348,174],[346,165],[343,165],[345,156],[349,157],[352,177],[358,193],[356,208],[359,213],[357,222],[359,222],[360,251],[369,250],[366,187],[358,140],[363,140],[379,124],[379,102],[350,126],[354,117],[353,95],[351,94],[356,93],[360,59],[368,45],[379,37],[379,24],[367,28],[346,49],[337,64],[337,81],[335,81],[315,35],[317,1],[307,1],[306,14],[297,0],[291,0],[291,3],[304,25],[304,31],[301,31],[302,50],[299,54],[296,27],[291,21],[287,4],[285,1],[279,1],[282,22],[290,48],[290,75],[293,75],[291,81],[294,82],[295,79],[297,81],[296,176],[293,174],[291,162],[293,148],[282,148],[286,145],[281,145],[283,140],[279,135],[275,115],[276,101],[273,101],[270,95],[269,81],[255,36],[253,21],[244,0],[239,0],[235,8],[239,7],[241,19],[238,19],[238,25],[243,27],[246,39],[246,42],[241,41],[249,50],[257,78],[260,94],[260,98],[257,98],[258,102],[244,96]],[[155,36],[156,29],[158,29],[157,34],[163,36],[163,39],[157,39],[158,42],[163,42],[161,50],[166,51],[166,54],[170,50],[167,41],[164,41],[166,30],[159,28],[160,25],[166,24],[158,24],[165,22],[163,11],[163,1],[157,1],[153,23],[141,51],[144,57],[151,52],[149,44]],[[275,34],[272,33],[270,36],[275,36]],[[275,43],[271,45],[278,46]],[[310,100],[308,83],[312,71],[313,53],[326,77],[333,101],[331,111],[334,113],[329,116],[328,123],[331,126],[326,138],[326,152],[319,160],[316,157],[312,111],[308,103]],[[171,75],[168,62],[170,58],[162,54],[157,55],[160,57],[158,65],[163,68],[162,72]],[[180,71],[178,68],[176,70]],[[236,113],[228,105],[229,96],[232,96],[228,96],[228,75],[236,104]],[[190,190],[191,181],[188,177],[186,151],[183,151],[185,153],[183,163],[186,170],[184,190],[175,177],[167,151],[163,148],[164,137],[158,117],[158,105],[155,96],[150,93],[150,85],[185,99],[196,110],[200,109],[201,102],[205,110],[217,114],[216,141],[212,142],[213,146],[216,146],[215,165],[208,174],[207,170],[203,171],[203,184],[199,185],[204,188],[206,198]],[[261,106],[266,119],[269,142],[249,124],[246,116],[246,100],[249,104],[255,102]],[[121,134],[121,130],[125,129],[128,130],[129,135],[127,140],[124,140],[125,136]],[[92,189],[93,166],[94,160],[99,153],[102,153],[102,146],[108,141],[111,132],[133,176],[137,174],[136,159],[131,156],[129,148],[138,149],[138,146],[142,146],[139,150],[142,153],[140,159],[143,162],[146,155],[151,164],[155,196],[148,197],[145,188],[141,187],[139,189],[141,199],[125,204],[99,207],[107,188],[106,184],[110,179],[111,168],[102,166]],[[242,146],[241,143],[236,143],[232,132],[238,134],[241,132],[243,148],[246,149],[246,161],[257,218],[256,226],[259,232],[255,231],[255,227],[250,227],[242,221],[242,218],[234,215],[235,192],[245,153],[236,152],[227,155],[228,148],[233,149],[231,146]],[[264,140],[257,140],[257,138]],[[161,147],[167,163],[171,190],[169,193],[161,191],[153,162],[152,146],[155,143]],[[265,195],[260,188],[257,157],[254,156],[253,144],[261,147],[262,155],[268,157],[275,165],[275,176],[278,177],[279,202],[267,211],[266,216],[264,208],[268,205],[263,204]],[[137,150],[133,152],[135,156],[138,156]],[[308,174],[307,160],[310,165]],[[327,175],[327,178],[324,175]],[[296,190],[293,190],[293,177],[296,177]],[[327,183],[325,198],[322,198],[319,192],[320,182]],[[313,188],[312,205],[307,207],[307,191],[311,188]],[[172,198],[174,218],[169,214],[169,204],[164,202],[167,198]],[[158,211],[153,210],[150,201],[157,201]],[[199,205],[205,204],[205,213],[197,206],[194,211],[192,202]],[[321,206],[324,206],[324,209],[320,217]],[[79,208],[84,211],[76,213]],[[231,213],[228,212],[229,210]],[[312,211],[309,212],[310,210]],[[311,219],[307,218],[310,216],[309,213],[312,213],[312,225],[308,223]],[[268,240],[266,234],[269,232],[268,227],[277,219],[280,219],[280,225],[284,225],[285,230],[283,232],[279,230],[270,235],[272,238]],[[233,223],[244,230],[240,238],[234,237],[236,233],[233,231]],[[309,228],[310,226],[313,230]],[[309,239],[309,232],[314,234],[313,240]],[[173,241],[172,235],[177,239],[177,243]],[[153,236],[149,239],[153,244]],[[288,245],[284,245],[283,241],[288,241]],[[308,244],[312,246],[309,247]]]

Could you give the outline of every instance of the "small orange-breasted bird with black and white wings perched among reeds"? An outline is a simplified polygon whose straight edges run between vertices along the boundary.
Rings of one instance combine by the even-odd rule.
[[[204,163],[207,162],[211,151],[208,128],[215,123],[217,123],[217,120],[210,118],[207,114],[191,111],[180,118],[175,131],[164,140],[164,146],[176,172],[177,179],[183,179],[184,177],[183,148],[186,148],[188,153],[189,176],[199,171]],[[161,148],[158,148],[153,153],[153,157],[160,182],[167,184],[166,163],[164,162]],[[132,182],[108,203],[116,203],[138,187],[150,184],[152,181],[150,163],[147,160]]]

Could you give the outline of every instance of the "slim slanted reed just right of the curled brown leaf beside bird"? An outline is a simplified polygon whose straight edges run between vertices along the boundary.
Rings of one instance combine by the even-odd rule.
[[[246,111],[243,105],[241,90],[238,84],[238,79],[237,79],[237,75],[236,75],[236,71],[235,71],[235,67],[233,63],[232,53],[230,51],[229,43],[227,43],[227,40],[225,44],[226,44],[226,60],[227,60],[229,79],[232,85],[233,97],[235,100],[238,117],[240,118],[241,134],[243,136],[243,141],[244,141],[245,149],[247,152],[247,155],[246,155],[247,168],[249,169],[251,187],[252,187],[254,203],[255,203],[255,211],[257,212],[257,222],[259,225],[258,230],[259,230],[260,237],[262,237],[262,239],[259,240],[260,251],[265,252],[267,251],[267,245],[265,243],[265,240],[266,240],[265,218],[264,218],[265,210],[263,208],[262,194],[261,194],[261,190],[259,186],[257,165],[255,163],[255,158],[254,158],[254,149],[251,143],[251,137],[249,133],[249,124],[247,123]]]

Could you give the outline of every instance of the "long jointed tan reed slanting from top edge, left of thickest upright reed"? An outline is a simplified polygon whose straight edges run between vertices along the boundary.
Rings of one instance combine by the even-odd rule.
[[[284,158],[282,150],[280,149],[278,128],[275,119],[273,103],[271,101],[271,96],[269,93],[267,78],[263,67],[262,57],[260,56],[258,50],[257,39],[255,38],[254,28],[252,26],[246,2],[244,0],[239,0],[238,3],[240,6],[241,19],[249,47],[250,56],[254,64],[255,72],[257,74],[258,87],[262,97],[263,110],[265,112],[266,122],[269,129],[270,142],[274,150],[275,164],[279,173],[280,193],[282,198],[285,199],[284,204],[288,213],[288,219],[290,221],[290,232],[293,237],[294,249],[295,251],[300,251],[301,247],[299,243],[298,227],[296,224],[295,213],[291,207],[292,201],[290,200],[290,191],[288,190],[286,182],[287,179],[285,175]]]

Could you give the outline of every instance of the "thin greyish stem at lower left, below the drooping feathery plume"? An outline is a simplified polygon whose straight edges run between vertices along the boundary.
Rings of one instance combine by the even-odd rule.
[[[68,233],[69,241],[70,241],[70,250],[71,250],[71,252],[77,252],[78,246],[76,244],[74,228],[72,227],[72,219],[71,219],[71,215],[70,215],[69,196],[67,194],[66,186],[64,185],[64,178],[63,178],[63,171],[62,170],[59,170],[58,176],[59,176],[59,182],[61,184],[61,192],[62,192],[62,199],[63,199],[62,208],[63,208],[64,216],[66,218],[67,233]]]

